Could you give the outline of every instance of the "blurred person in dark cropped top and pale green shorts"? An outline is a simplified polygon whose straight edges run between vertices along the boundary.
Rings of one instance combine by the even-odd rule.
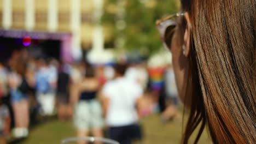
[[[86,67],[85,77],[78,83],[73,97],[75,103],[74,125],[78,130],[78,137],[88,136],[89,130],[95,137],[103,137],[102,109],[97,100],[100,83],[95,75],[95,69]],[[76,102],[77,101],[77,102]],[[83,142],[81,142],[83,143]]]

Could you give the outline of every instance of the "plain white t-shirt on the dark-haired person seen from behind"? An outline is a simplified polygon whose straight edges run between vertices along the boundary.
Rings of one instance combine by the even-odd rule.
[[[130,125],[138,121],[136,100],[143,90],[136,82],[118,78],[106,83],[103,94],[109,98],[106,123],[110,127]]]

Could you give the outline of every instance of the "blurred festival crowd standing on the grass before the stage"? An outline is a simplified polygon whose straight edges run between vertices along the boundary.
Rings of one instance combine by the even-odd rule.
[[[28,137],[33,123],[56,115],[73,121],[78,137],[132,143],[142,139],[139,119],[160,111],[168,121],[177,106],[171,64],[71,64],[26,50],[0,61],[0,143]]]

